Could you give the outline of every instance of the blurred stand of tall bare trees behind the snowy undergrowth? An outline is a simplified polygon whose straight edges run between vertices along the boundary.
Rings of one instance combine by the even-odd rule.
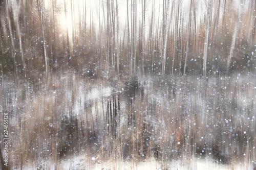
[[[119,9],[120,3],[126,11]],[[71,68],[112,76],[196,73],[207,77],[234,69],[248,72],[255,66],[255,1],[114,0],[95,4],[1,1],[4,73],[31,80]],[[120,20],[124,14],[125,22]],[[61,26],[63,16],[66,28]]]

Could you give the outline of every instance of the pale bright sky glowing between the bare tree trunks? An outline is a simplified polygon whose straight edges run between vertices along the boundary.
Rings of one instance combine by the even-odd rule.
[[[141,0],[137,0],[137,28],[139,28],[139,25],[141,25]],[[155,6],[153,8],[153,2],[155,2]],[[169,12],[172,9],[172,2],[170,1],[170,9]],[[184,0],[179,1],[180,2],[180,13],[183,18],[184,28],[186,27],[187,20],[188,20],[188,14],[189,14],[189,5],[190,1]],[[62,29],[63,32],[66,32],[67,30],[69,33],[72,33],[72,17],[71,17],[71,0],[56,0],[54,1],[55,8],[58,8],[58,12],[56,12],[56,19],[58,20],[60,29]],[[66,3],[66,13],[67,18],[65,16],[65,8],[64,3]],[[113,0],[114,8],[116,8],[116,1]],[[127,30],[127,10],[128,10],[128,17],[129,22],[131,26],[131,1],[128,1],[128,8],[127,8],[127,1],[126,0],[118,0],[118,21],[119,21],[119,29],[121,31]],[[221,2],[221,6],[223,6]],[[207,10],[206,10],[206,4],[205,1],[199,0],[196,1],[196,18],[197,23],[204,22],[204,17],[206,17]],[[49,10],[52,10],[52,1],[45,1],[46,8]],[[89,29],[90,27],[98,29],[103,29],[106,27],[106,0],[73,0],[73,20],[74,20],[74,29],[75,32],[78,30],[78,26],[86,27]],[[234,5],[238,5],[237,3],[234,3]],[[175,17],[177,17],[177,6],[178,1],[175,1],[174,3],[174,11],[172,15],[172,21],[171,24],[175,24]],[[116,10],[116,9],[115,9]],[[220,16],[222,15],[223,9],[221,8]],[[162,25],[162,15],[163,15],[163,1],[145,1],[145,33],[148,32],[148,29],[151,25],[151,19],[152,19],[152,13],[154,11],[154,28],[157,28]],[[192,12],[193,13],[193,12]],[[181,17],[180,17],[181,18]],[[116,20],[115,20],[116,21]],[[81,22],[84,22],[84,24],[81,25]],[[100,25],[100,27],[99,27]]]

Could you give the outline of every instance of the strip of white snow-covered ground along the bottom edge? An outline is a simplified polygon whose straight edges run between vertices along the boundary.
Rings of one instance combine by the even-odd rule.
[[[137,162],[137,161],[108,161],[101,162],[100,160],[92,160],[94,158],[85,158],[83,156],[74,157],[67,160],[62,160],[59,165],[60,169],[252,169],[251,165],[247,165],[245,163],[236,162],[235,164],[222,164],[220,162],[216,162],[213,160],[207,159],[197,159],[193,158],[188,163],[184,164],[184,161],[170,161],[170,162],[161,162],[156,161],[155,158],[150,158],[145,161]]]

